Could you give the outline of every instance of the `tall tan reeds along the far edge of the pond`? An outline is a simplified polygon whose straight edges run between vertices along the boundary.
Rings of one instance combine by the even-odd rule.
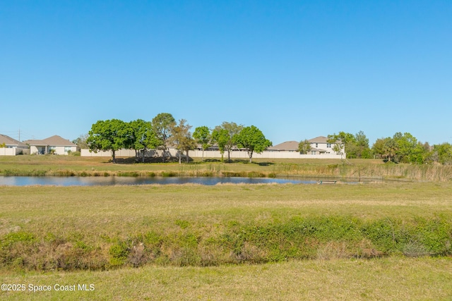
[[[161,168],[161,166],[160,166]],[[130,168],[129,168],[130,169]],[[304,165],[281,164],[267,170],[259,166],[250,165],[248,171],[236,165],[207,165],[207,166],[168,166],[168,169],[153,170],[92,170],[53,169],[23,170],[7,168],[0,170],[0,176],[220,176],[220,177],[262,177],[275,178],[278,176],[301,177],[329,177],[329,178],[365,178],[379,180],[417,180],[446,182],[452,180],[452,166],[409,165],[409,164],[367,164],[362,166],[346,164]]]

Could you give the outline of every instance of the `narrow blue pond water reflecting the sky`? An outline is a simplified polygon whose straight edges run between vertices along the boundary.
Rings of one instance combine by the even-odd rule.
[[[27,177],[0,176],[0,185],[28,186],[28,185],[56,185],[56,186],[108,186],[108,185],[147,185],[147,184],[186,184],[216,185],[223,183],[245,184],[314,184],[315,179],[299,178],[239,178],[239,177]]]

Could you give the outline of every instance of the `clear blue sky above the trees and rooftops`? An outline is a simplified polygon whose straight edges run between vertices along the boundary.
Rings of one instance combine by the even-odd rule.
[[[452,142],[452,1],[0,1],[0,133],[98,120]]]

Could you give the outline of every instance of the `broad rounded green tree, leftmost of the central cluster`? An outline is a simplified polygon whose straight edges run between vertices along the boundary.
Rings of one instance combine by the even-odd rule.
[[[113,163],[116,163],[115,152],[118,149],[131,147],[132,130],[129,123],[119,119],[97,121],[88,133],[88,145],[93,152],[112,151]]]

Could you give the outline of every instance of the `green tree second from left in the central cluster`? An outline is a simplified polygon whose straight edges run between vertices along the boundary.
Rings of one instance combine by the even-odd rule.
[[[160,145],[160,140],[155,136],[152,123],[150,121],[143,121],[143,119],[137,119],[130,123],[133,139],[132,149],[135,149],[137,159],[139,153],[142,153],[142,162],[144,162],[145,152],[148,149],[155,149]]]

